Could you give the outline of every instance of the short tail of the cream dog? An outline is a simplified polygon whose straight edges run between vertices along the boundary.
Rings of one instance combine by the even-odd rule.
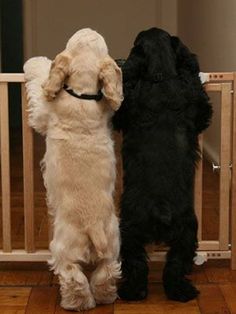
[[[103,223],[97,223],[96,225],[89,227],[88,234],[98,257],[104,258],[105,253],[107,252],[108,242]]]

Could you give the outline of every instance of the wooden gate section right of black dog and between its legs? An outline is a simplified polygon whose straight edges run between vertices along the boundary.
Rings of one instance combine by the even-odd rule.
[[[231,259],[231,269],[236,270],[236,72],[204,73],[207,92],[221,92],[221,136],[228,141],[220,148],[219,240],[202,240],[202,160],[195,176],[195,212],[198,217],[199,249],[195,263],[201,265],[208,259]],[[225,110],[223,110],[223,107]],[[229,125],[227,125],[229,123]],[[202,152],[203,135],[199,136]],[[231,171],[231,175],[230,175]],[[231,179],[230,179],[231,177]],[[223,196],[222,196],[223,194]],[[222,210],[224,208],[224,211]],[[152,246],[150,259],[165,259],[166,252]]]

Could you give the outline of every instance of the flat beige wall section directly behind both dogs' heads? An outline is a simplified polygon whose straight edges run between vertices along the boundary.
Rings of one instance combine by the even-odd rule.
[[[114,58],[125,58],[141,30],[177,29],[177,0],[23,0],[25,59],[49,58],[63,50],[78,29],[91,27],[104,35]]]

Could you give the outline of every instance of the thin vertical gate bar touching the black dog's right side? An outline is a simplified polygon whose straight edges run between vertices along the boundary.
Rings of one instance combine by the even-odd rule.
[[[198,241],[202,241],[202,146],[203,135],[199,135],[201,159],[198,162],[194,185],[194,208],[198,219]]]

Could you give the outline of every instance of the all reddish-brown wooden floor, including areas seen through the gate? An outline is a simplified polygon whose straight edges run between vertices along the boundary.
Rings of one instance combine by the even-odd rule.
[[[116,138],[119,143],[119,138]],[[37,248],[48,246],[48,222],[45,190],[39,169],[44,152],[44,140],[35,137],[35,238]],[[119,144],[117,146],[119,150]],[[118,168],[120,159],[118,159]],[[121,192],[122,174],[118,174],[116,204]],[[204,162],[203,180],[203,238],[218,237],[218,187],[219,177],[213,174],[208,162]],[[22,148],[20,134],[11,136],[11,208],[13,248],[24,244]],[[209,223],[211,222],[211,223]],[[1,214],[0,214],[1,224]],[[0,233],[1,244],[1,233]],[[1,245],[0,245],[1,246]],[[236,313],[236,271],[231,271],[229,261],[209,261],[195,267],[192,280],[199,290],[197,300],[186,304],[168,301],[161,284],[162,263],[150,265],[149,296],[142,302],[123,302],[98,306],[84,313],[93,314],[151,314],[151,313]],[[0,314],[68,313],[60,306],[57,278],[45,264],[1,263],[0,264]]]

